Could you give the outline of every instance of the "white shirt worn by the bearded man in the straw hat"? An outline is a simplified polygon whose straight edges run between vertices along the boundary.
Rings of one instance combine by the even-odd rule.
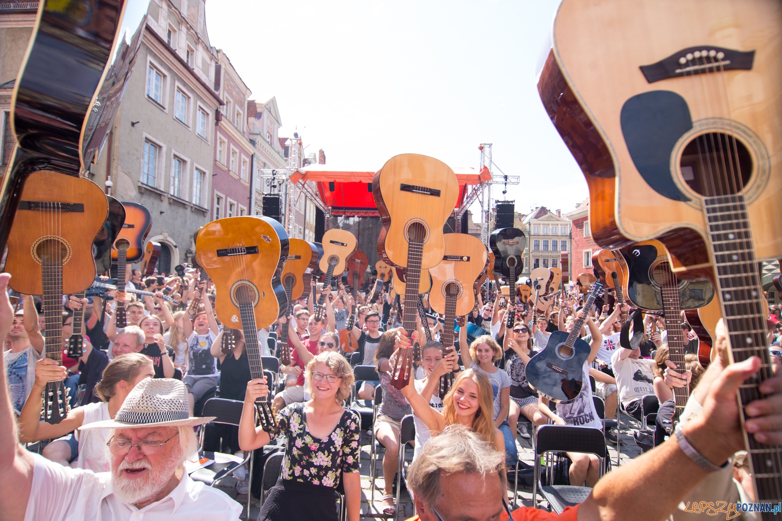
[[[234,521],[242,505],[223,491],[190,479],[139,510],[117,500],[109,473],[71,469],[34,454],[33,485],[24,521]]]

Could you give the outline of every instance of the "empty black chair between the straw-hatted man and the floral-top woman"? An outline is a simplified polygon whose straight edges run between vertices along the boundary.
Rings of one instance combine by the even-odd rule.
[[[206,403],[203,405],[203,416],[216,416],[215,419],[212,420],[210,423],[224,423],[227,425],[234,425],[239,426],[239,422],[242,419],[242,408],[244,407],[244,402],[239,400],[226,400],[225,398],[210,398],[209,400],[206,400]],[[201,430],[201,439],[200,444],[203,447],[203,434],[204,430]],[[195,472],[190,474],[190,477],[192,480],[200,481],[204,484],[209,485],[210,487],[213,487],[215,484],[217,484],[218,481],[222,480],[224,477],[227,476],[233,476],[237,469],[239,469],[241,466],[246,465],[247,462],[250,462],[253,460],[253,452],[249,451],[249,454],[247,457],[242,460],[235,455],[232,454],[223,454],[221,452],[214,452],[211,453],[210,456],[209,452],[204,453],[204,455],[209,459],[214,459],[215,462],[212,463],[209,467],[204,467],[203,469],[198,469]],[[222,462],[218,461],[218,459],[223,460]],[[253,473],[252,469],[246,470],[246,476],[247,476],[247,512],[249,515],[249,501],[250,501],[250,495],[249,490],[252,487],[252,480],[253,480]]]

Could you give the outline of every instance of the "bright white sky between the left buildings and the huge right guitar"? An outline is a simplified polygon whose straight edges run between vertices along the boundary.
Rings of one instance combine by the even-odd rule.
[[[559,0],[207,0],[206,27],[265,102],[335,169],[396,154],[478,168],[480,143],[521,184],[517,212],[569,212],[587,184],[536,89]],[[496,169],[494,173],[499,173]],[[502,198],[502,186],[493,198]]]

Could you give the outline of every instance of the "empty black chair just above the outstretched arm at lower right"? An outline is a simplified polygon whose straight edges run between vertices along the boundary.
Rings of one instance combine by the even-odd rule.
[[[578,487],[575,485],[553,485],[551,479],[549,485],[543,486],[540,479],[540,457],[548,452],[584,452],[597,455],[604,460],[608,451],[605,447],[605,437],[601,430],[570,425],[543,425],[537,430],[535,439],[535,478],[533,482],[533,505],[537,505],[537,492],[548,501],[554,512],[561,514],[565,507],[578,505],[587,499],[592,491],[591,487]],[[601,465],[601,476],[604,465]],[[547,466],[547,475],[551,476],[553,466]]]

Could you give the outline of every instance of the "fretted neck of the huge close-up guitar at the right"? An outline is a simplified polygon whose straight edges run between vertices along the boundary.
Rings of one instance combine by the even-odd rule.
[[[717,294],[730,337],[730,354],[734,362],[742,362],[752,356],[762,361],[757,375],[739,387],[741,407],[751,401],[766,398],[759,385],[773,376],[766,328],[766,309],[763,300],[758,260],[743,194],[704,198],[704,211],[708,223],[708,241],[714,256]],[[670,333],[669,333],[670,334]],[[752,480],[755,484],[755,501],[772,501],[780,498],[782,480],[782,447],[755,441],[744,434],[750,455]]]

